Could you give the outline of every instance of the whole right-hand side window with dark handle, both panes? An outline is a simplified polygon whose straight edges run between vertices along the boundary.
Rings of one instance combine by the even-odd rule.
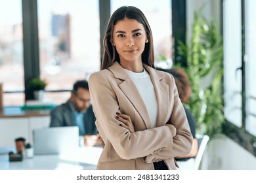
[[[223,1],[224,133],[256,156],[254,0]]]

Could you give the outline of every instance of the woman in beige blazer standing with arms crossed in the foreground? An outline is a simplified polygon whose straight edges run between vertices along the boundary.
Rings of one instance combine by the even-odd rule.
[[[101,70],[89,78],[105,143],[97,169],[176,169],[192,135],[173,77],[154,69],[152,31],[138,8],[110,17]]]

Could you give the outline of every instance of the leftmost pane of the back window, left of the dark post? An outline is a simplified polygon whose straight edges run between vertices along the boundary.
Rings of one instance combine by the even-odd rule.
[[[0,0],[0,82],[3,105],[24,103],[22,1]]]

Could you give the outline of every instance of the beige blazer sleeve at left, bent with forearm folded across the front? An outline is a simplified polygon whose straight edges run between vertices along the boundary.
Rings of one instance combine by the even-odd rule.
[[[114,86],[115,82],[111,82],[111,85],[110,79],[114,78],[106,79],[101,71],[94,73],[89,78],[89,89],[97,124],[103,129],[104,137],[108,138],[120,158],[142,158],[161,149],[171,149],[173,137],[167,125],[134,133],[120,125],[121,122],[116,120],[116,112],[120,112],[115,92],[117,89],[113,88],[118,86]]]

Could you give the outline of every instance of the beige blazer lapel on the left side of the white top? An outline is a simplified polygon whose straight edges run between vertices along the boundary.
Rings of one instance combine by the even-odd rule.
[[[148,114],[148,110],[131,77],[123,70],[117,61],[108,69],[114,74],[116,78],[123,80],[123,82],[119,84],[120,90],[125,94],[135,109],[139,112],[141,118],[144,121],[144,124],[146,125],[146,128],[151,128],[152,123]]]

